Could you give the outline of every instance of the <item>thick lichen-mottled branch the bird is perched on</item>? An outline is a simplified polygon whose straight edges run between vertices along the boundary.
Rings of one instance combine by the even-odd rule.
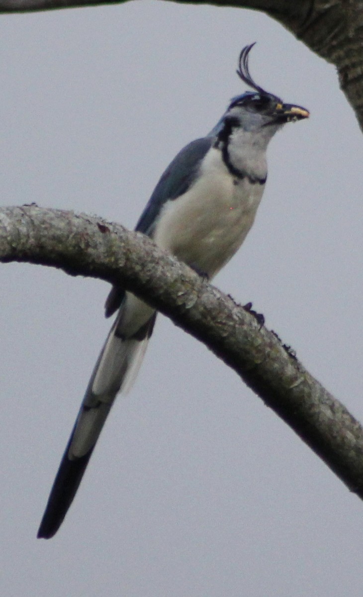
[[[0,210],[0,261],[92,276],[147,300],[241,376],[363,498],[363,429],[248,310],[149,238],[84,214],[36,205]]]

